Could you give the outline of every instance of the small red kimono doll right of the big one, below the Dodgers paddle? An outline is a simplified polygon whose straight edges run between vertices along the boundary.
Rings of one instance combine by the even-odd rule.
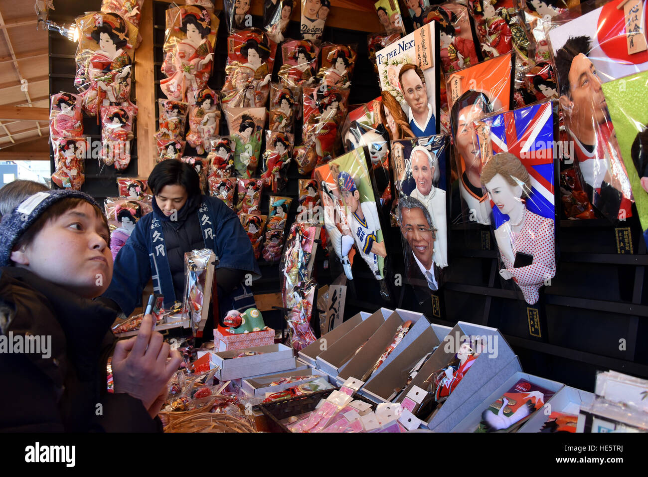
[[[287,86],[311,84],[318,67],[319,47],[310,40],[290,40],[281,45],[283,65],[279,78]]]

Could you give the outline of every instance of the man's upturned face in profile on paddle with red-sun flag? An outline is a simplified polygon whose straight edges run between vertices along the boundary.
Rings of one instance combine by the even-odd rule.
[[[583,53],[572,60],[569,70],[570,94],[572,96],[572,121],[583,124],[594,121],[600,124],[605,121],[607,104],[601,80],[596,74],[596,68]]]

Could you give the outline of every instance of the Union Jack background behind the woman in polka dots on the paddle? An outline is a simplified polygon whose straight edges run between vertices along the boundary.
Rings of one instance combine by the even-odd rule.
[[[522,161],[531,176],[531,194],[526,200],[529,211],[555,220],[555,168],[558,135],[554,135],[557,115],[552,102],[525,106],[515,111],[487,117],[492,154],[511,152]],[[509,220],[491,200],[494,227]]]

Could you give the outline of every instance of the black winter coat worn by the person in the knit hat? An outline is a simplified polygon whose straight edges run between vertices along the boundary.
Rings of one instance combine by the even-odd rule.
[[[0,389],[7,393],[0,431],[161,430],[139,399],[106,392],[100,356],[111,348],[107,333],[114,319],[110,308],[29,270],[0,268],[0,340],[6,343],[9,332],[14,338],[51,336],[49,358],[0,353]]]

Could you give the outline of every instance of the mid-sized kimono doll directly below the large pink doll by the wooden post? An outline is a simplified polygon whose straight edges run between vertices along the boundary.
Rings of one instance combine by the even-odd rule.
[[[189,107],[189,133],[187,143],[196,148],[198,154],[205,154],[209,140],[218,134],[220,111],[216,91],[208,87],[196,92],[196,102]]]

